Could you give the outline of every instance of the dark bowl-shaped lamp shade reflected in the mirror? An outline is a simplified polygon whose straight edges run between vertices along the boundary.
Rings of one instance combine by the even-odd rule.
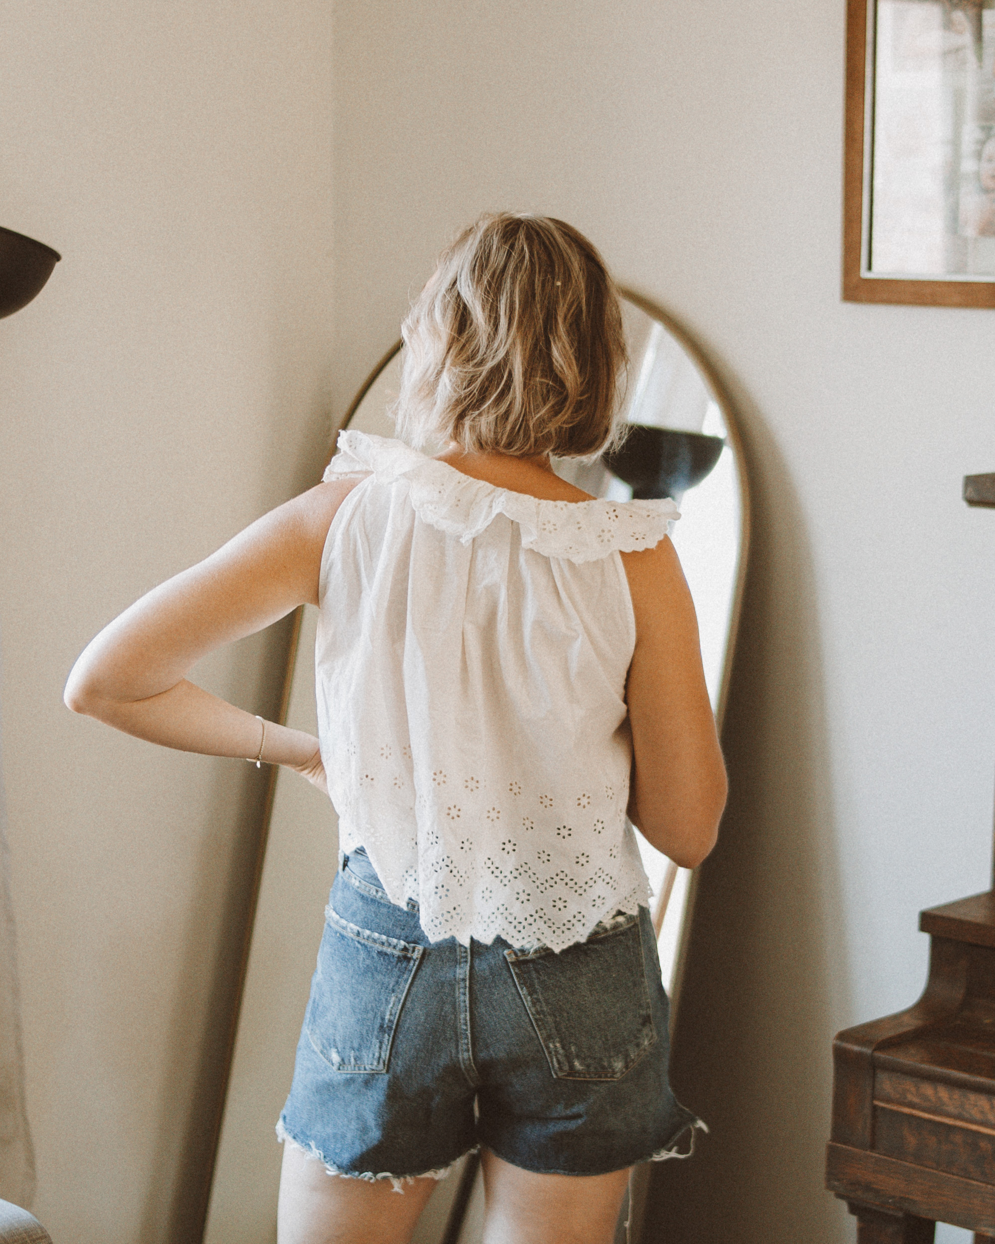
[[[632,488],[633,500],[649,501],[700,484],[724,445],[724,437],[636,423],[622,448],[604,454],[603,462]]]

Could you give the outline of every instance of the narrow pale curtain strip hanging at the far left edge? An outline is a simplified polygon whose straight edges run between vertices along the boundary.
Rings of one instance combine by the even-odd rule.
[[[0,648],[0,669],[2,649]],[[2,717],[0,704],[0,719]],[[21,1047],[21,999],[17,988],[17,945],[10,901],[7,807],[4,794],[2,729],[0,729],[0,1199],[30,1208],[35,1195],[35,1153],[27,1127]]]

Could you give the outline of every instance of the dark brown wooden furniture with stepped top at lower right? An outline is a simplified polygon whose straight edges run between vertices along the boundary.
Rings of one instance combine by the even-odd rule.
[[[928,1244],[938,1222],[995,1244],[995,891],[934,907],[908,1010],[833,1041],[826,1187],[858,1244]]]

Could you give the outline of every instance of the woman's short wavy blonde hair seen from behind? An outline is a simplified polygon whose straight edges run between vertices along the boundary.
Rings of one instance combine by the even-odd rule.
[[[548,216],[481,216],[402,326],[398,435],[424,447],[593,458],[624,435],[628,355],[595,246]]]

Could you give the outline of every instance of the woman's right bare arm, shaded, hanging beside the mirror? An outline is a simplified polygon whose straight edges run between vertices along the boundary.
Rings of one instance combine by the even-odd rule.
[[[698,620],[669,539],[624,552],[622,562],[636,612],[626,688],[633,743],[628,814],[657,850],[694,868],[715,845],[726,796]]]

